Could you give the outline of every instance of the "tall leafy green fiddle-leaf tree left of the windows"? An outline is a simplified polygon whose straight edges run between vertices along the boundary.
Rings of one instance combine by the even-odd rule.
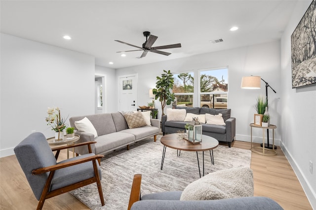
[[[153,89],[155,100],[159,99],[161,103],[162,114],[164,116],[164,107],[170,105],[174,100],[174,94],[171,92],[174,85],[173,74],[170,70],[163,70],[161,77],[157,76],[156,88]]]

